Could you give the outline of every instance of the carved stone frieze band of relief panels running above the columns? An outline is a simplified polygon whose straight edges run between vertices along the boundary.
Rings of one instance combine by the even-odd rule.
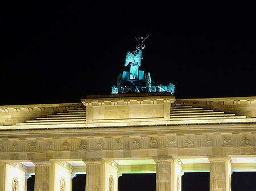
[[[255,146],[256,134],[159,135],[107,138],[47,138],[1,140],[0,152],[43,152],[77,150],[138,150],[150,148],[202,148]],[[217,145],[217,146],[216,146]]]

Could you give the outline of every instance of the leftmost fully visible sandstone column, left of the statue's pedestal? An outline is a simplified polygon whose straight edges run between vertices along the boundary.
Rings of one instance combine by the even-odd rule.
[[[49,191],[49,167],[51,162],[36,161],[35,164],[35,191]]]

